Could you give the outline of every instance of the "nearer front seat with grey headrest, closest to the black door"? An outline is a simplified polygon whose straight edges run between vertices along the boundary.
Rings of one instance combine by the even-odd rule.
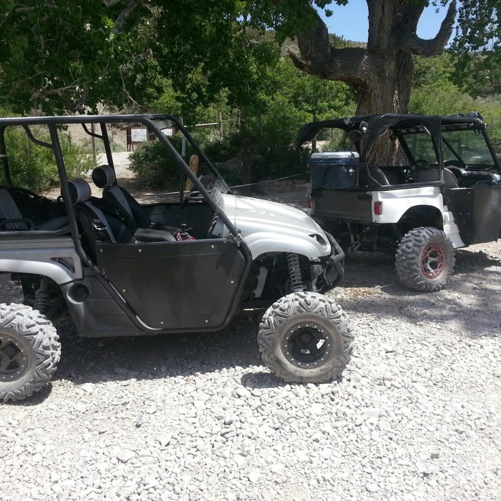
[[[91,187],[84,179],[68,181],[71,202],[80,229],[85,236],[86,251],[96,256],[96,243],[171,242],[174,235],[167,231],[139,228],[131,231],[114,207],[101,198],[92,196]]]

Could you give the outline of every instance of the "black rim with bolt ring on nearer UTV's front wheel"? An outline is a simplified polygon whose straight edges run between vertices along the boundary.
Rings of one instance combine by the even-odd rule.
[[[324,365],[332,354],[332,338],[325,327],[314,322],[291,327],[284,337],[282,351],[287,360],[303,369]]]

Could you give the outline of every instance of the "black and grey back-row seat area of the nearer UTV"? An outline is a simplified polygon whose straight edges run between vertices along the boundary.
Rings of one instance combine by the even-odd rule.
[[[69,232],[68,217],[59,215],[63,206],[51,210],[55,202],[35,197],[38,195],[22,188],[0,187],[0,230]]]

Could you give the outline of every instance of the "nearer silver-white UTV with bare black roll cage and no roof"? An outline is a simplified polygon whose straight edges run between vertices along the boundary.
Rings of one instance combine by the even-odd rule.
[[[100,133],[86,124],[97,124]],[[193,189],[177,203],[140,205],[117,183],[106,124],[141,123],[173,155]],[[58,129],[81,124],[104,141],[94,169],[102,196],[68,180]],[[162,132],[174,124],[215,183],[209,191]],[[49,129],[51,141],[35,137]],[[23,127],[54,152],[61,197],[13,186],[5,132]],[[352,353],[349,320],[323,294],[343,277],[344,253],[305,212],[234,196],[187,130],[169,115],[0,119],[0,272],[23,288],[23,304],[0,305],[0,400],[45,386],[60,358],[53,321],[69,314],[81,336],[211,332],[242,308],[266,308],[263,359],[287,381],[338,379]]]

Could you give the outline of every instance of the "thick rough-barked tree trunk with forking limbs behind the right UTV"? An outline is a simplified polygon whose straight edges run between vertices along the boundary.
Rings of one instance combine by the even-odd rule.
[[[330,46],[327,26],[316,11],[313,26],[298,33],[301,57],[289,51],[296,67],[325,80],[341,80],[357,90],[357,115],[407,113],[412,83],[412,55],[441,54],[452,33],[456,0],[452,0],[437,36],[422,40],[416,35],[424,2],[366,0],[369,11],[367,49]],[[385,134],[366,159],[379,165],[398,162],[398,149]]]

